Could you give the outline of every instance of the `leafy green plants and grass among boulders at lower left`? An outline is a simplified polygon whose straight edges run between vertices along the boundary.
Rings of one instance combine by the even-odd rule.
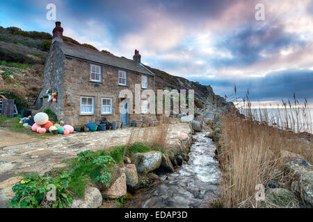
[[[50,176],[42,178],[37,174],[27,176],[13,186],[15,196],[8,207],[59,207],[72,205],[72,198],[83,198],[88,182],[99,182],[110,186],[113,164],[110,155],[98,155],[93,151],[83,151],[70,160],[69,167],[62,171],[54,171]],[[45,197],[49,191],[48,185],[56,187],[56,201],[48,201]]]

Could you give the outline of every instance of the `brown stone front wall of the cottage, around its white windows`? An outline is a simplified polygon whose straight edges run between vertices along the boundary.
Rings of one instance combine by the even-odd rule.
[[[135,95],[135,84],[141,85],[141,74],[127,71],[127,86],[122,86],[118,85],[118,70],[118,68],[102,65],[102,83],[95,83],[90,81],[89,62],[66,58],[64,72],[64,91],[66,93],[63,95],[63,109],[58,112],[58,118],[72,125],[99,121],[103,117],[109,121],[120,121],[121,99],[118,98],[120,91],[130,89]],[[153,76],[148,76],[148,89],[153,89]],[[142,91],[143,89],[141,89]],[[95,114],[80,114],[81,96],[95,98]],[[113,114],[101,114],[102,97],[113,98]],[[129,121],[138,119],[138,116],[147,115],[129,114]]]

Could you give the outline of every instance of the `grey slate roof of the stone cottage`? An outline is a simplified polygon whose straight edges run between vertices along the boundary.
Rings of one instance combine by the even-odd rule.
[[[88,60],[90,62],[96,62],[103,65],[109,65],[112,67],[118,67],[121,69],[126,69],[129,71],[134,71],[140,74],[147,74],[154,76],[154,74],[147,70],[140,63],[134,62],[134,60],[129,60],[127,58],[120,58],[118,56],[112,56],[106,53],[102,53],[93,49],[88,49],[77,44],[72,44],[70,42],[58,42],[65,56],[70,56],[72,58],[78,58],[82,60]]]

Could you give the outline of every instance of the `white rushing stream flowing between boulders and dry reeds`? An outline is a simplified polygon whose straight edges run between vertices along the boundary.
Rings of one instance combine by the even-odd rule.
[[[125,207],[209,207],[220,191],[220,169],[213,158],[216,146],[206,134],[194,136],[198,142],[191,146],[187,164],[157,185],[136,191]]]

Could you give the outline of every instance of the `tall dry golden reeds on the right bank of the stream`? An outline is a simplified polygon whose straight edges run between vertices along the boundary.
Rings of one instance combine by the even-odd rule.
[[[218,159],[223,173],[224,207],[258,207],[257,184],[266,187],[271,180],[284,184],[288,178],[282,168],[287,160],[282,158],[281,151],[303,155],[312,163],[313,138],[307,143],[307,135],[300,134],[303,130],[312,132],[306,101],[303,107],[289,102],[288,110],[284,103],[276,114],[266,109],[255,112],[250,104],[246,102],[246,119],[233,114],[222,117],[222,149]]]

